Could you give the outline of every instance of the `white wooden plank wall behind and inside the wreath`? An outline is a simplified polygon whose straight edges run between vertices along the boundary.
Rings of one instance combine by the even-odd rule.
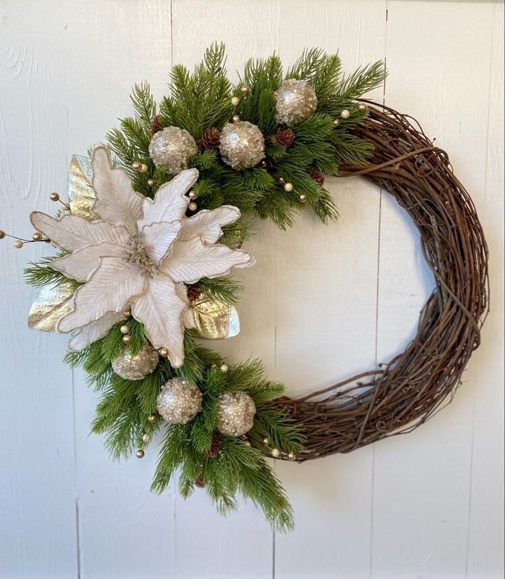
[[[272,534],[250,505],[220,518],[204,493],[148,488],[156,449],[111,462],[89,435],[96,395],[60,363],[65,340],[26,328],[34,253],[0,245],[0,578],[503,577],[502,2],[414,0],[0,0],[0,226],[30,235],[54,210],[71,154],[130,113],[130,86],[161,96],[172,63],[224,40],[248,56],[340,50],[387,60],[381,102],[449,151],[491,250],[492,310],[454,403],[408,436],[350,455],[276,464],[296,510]],[[384,93],[384,94],[383,94]],[[240,274],[242,334],[292,394],[368,369],[412,337],[433,282],[408,217],[366,182],[328,180],[340,221],[260,224]]]

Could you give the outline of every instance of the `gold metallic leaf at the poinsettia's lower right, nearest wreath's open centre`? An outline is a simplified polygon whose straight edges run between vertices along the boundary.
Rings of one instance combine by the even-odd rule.
[[[233,338],[240,331],[237,310],[216,300],[206,300],[193,305],[196,331],[206,340]]]

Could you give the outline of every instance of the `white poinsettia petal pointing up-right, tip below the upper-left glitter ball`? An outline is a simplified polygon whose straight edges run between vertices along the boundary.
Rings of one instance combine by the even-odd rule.
[[[182,219],[189,204],[186,193],[193,187],[197,179],[198,171],[196,169],[185,169],[171,181],[162,185],[156,191],[154,200],[146,197],[143,202],[143,217],[137,224],[139,230],[152,223]]]

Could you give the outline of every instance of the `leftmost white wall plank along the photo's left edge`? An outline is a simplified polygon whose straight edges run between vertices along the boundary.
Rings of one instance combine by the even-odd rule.
[[[65,163],[64,23],[31,4],[0,3],[0,228],[29,237]],[[0,576],[12,579],[78,575],[71,372],[64,340],[26,325],[37,292],[21,272],[43,245],[0,243]]]

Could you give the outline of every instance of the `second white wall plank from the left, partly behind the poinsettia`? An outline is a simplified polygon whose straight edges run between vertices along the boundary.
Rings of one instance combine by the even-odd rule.
[[[60,5],[66,19],[67,160],[104,141],[117,117],[133,113],[131,87],[148,80],[156,98],[170,66],[168,0],[94,0]],[[65,170],[66,167],[62,167]],[[172,489],[150,493],[158,439],[143,460],[113,462],[91,435],[98,394],[74,375],[80,571],[83,578],[172,577]]]

